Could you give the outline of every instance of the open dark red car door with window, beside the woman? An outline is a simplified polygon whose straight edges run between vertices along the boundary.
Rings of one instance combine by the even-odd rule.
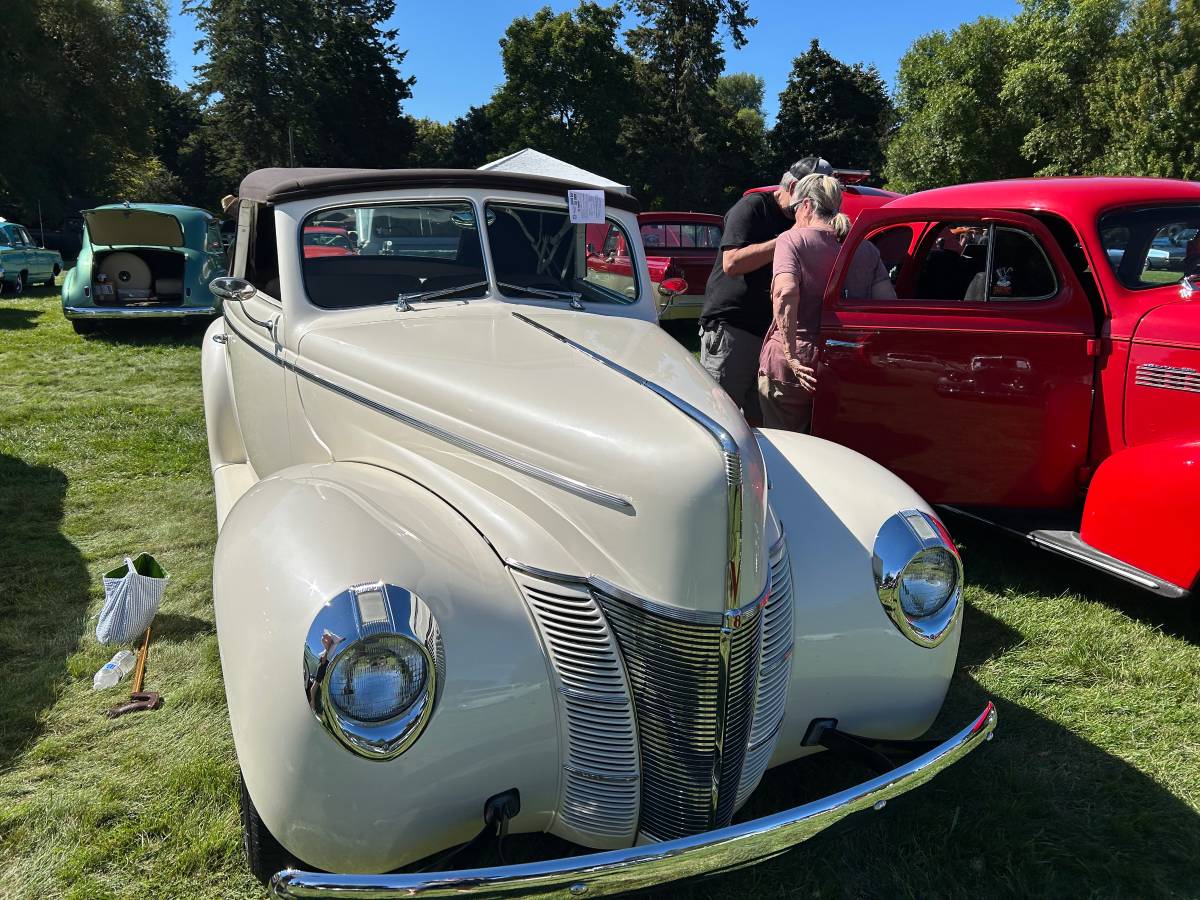
[[[893,257],[898,299],[850,295],[864,240]],[[1094,323],[1032,216],[865,211],[826,292],[814,433],[931,503],[1069,505],[1086,463]]]

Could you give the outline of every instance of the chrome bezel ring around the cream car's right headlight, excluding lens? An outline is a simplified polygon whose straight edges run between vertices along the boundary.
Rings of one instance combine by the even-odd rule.
[[[943,550],[954,560],[954,588],[928,616],[911,616],[901,604],[902,576],[928,550]],[[901,510],[890,516],[875,538],[871,554],[875,588],[888,618],[913,643],[932,648],[944,641],[962,616],[962,559],[946,527],[928,512]]]

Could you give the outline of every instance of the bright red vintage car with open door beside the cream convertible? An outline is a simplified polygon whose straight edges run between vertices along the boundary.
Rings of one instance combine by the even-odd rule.
[[[1200,184],[959,185],[860,215],[812,432],[1163,596],[1200,578]],[[1165,240],[1164,240],[1165,239]],[[845,296],[865,240],[898,300]],[[1147,265],[1164,242],[1190,250]]]

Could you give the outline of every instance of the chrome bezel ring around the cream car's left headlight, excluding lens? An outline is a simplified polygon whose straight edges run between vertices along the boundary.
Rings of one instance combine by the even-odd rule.
[[[330,674],[338,659],[382,635],[413,643],[425,660],[425,684],[410,706],[382,721],[360,721],[330,696]],[[367,760],[395,760],[425,731],[445,678],[442,634],[433,613],[410,590],[373,582],[355,584],[317,612],[304,648],[305,698],[325,730]]]

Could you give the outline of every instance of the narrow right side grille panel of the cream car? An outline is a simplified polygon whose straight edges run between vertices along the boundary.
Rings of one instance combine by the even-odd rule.
[[[787,683],[792,673],[792,565],[784,538],[770,548],[770,599],[762,613],[762,653],[754,725],[746,744],[737,805],[749,799],[762,780],[775,751],[779,728],[787,708]]]

